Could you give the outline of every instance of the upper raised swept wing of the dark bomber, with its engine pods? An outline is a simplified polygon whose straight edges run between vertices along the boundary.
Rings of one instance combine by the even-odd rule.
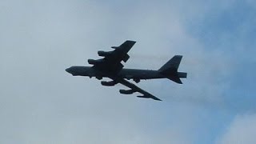
[[[88,62],[94,65],[94,69],[101,70],[108,74],[118,74],[123,67],[121,62],[127,62],[130,58],[127,53],[134,44],[134,41],[126,41],[120,46],[112,46],[113,51],[98,51],[98,55],[104,58],[98,60],[88,59]]]

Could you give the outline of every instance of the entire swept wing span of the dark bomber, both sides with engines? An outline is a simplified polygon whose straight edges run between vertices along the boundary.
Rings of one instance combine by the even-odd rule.
[[[93,68],[96,70],[101,70],[102,72],[109,74],[109,78],[113,81],[111,82],[102,82],[104,86],[114,86],[117,83],[121,83],[124,86],[130,88],[130,90],[120,90],[121,94],[133,94],[134,92],[138,92],[142,94],[142,96],[137,96],[138,98],[152,98],[157,101],[162,101],[161,99],[155,97],[154,95],[142,90],[138,86],[134,85],[131,82],[126,81],[123,78],[116,78],[114,75],[118,74],[120,70],[122,70],[123,62],[127,62],[130,56],[127,54],[129,50],[134,46],[134,41],[126,41],[123,42],[120,46],[112,46],[113,51],[98,51],[98,55],[104,58],[98,60],[89,59],[89,64],[94,65]]]

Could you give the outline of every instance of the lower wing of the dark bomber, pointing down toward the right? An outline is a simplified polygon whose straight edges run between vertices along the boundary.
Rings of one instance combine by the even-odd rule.
[[[119,83],[121,83],[124,86],[127,86],[130,88],[130,90],[120,90],[119,92],[121,94],[133,94],[134,92],[138,92],[140,94],[143,94],[142,96],[137,96],[138,98],[152,98],[154,100],[157,101],[162,101],[161,99],[155,97],[154,95],[146,92],[145,90],[142,90],[141,88],[139,88],[138,86],[134,85],[131,82],[126,81],[125,79],[120,79],[118,80]]]

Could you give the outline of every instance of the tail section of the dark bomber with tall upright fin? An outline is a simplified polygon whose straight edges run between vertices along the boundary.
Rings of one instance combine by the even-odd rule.
[[[186,73],[178,72],[178,66],[182,61],[182,55],[175,55],[171,58],[164,66],[162,66],[159,71],[161,74],[166,75],[166,78],[182,84],[180,78],[186,78]]]

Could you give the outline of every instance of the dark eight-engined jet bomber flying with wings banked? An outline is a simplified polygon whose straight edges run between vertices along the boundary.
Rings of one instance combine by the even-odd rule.
[[[127,86],[130,90],[119,90],[120,94],[134,94],[138,92],[142,94],[138,98],[152,98],[162,101],[154,95],[142,90],[127,80],[133,79],[134,82],[140,82],[142,79],[168,78],[174,82],[182,84],[180,78],[186,78],[186,73],[178,72],[178,66],[182,60],[181,55],[175,55],[159,70],[138,70],[123,68],[122,61],[127,62],[130,56],[128,51],[134,46],[135,42],[127,40],[120,46],[112,46],[112,51],[98,51],[98,56],[103,58],[94,60],[88,59],[88,63],[93,66],[71,66],[66,72],[73,76],[95,77],[98,80],[102,78],[110,78],[111,81],[102,81],[102,86],[114,86],[118,83]]]

